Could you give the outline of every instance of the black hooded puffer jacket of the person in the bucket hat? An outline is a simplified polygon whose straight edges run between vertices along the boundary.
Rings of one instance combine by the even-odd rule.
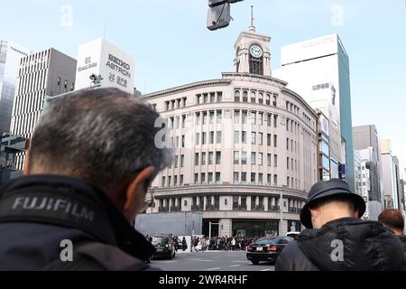
[[[304,230],[283,249],[275,270],[393,271],[405,265],[401,241],[390,230],[374,221],[345,218]]]

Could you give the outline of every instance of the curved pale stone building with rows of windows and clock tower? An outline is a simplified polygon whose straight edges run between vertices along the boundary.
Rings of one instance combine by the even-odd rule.
[[[301,229],[318,179],[318,116],[271,77],[269,41],[250,27],[235,43],[235,72],[143,96],[167,119],[175,154],[152,183],[150,213],[202,211],[212,236]]]

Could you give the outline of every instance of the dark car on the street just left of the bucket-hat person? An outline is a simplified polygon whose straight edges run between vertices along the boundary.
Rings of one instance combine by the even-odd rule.
[[[254,265],[262,261],[275,263],[283,248],[292,241],[294,238],[288,236],[261,238],[247,247],[246,258]]]

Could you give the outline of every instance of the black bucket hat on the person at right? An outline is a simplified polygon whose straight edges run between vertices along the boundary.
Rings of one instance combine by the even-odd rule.
[[[317,203],[319,200],[327,200],[332,196],[346,196],[348,200],[354,202],[355,208],[358,209],[358,218],[361,218],[364,215],[366,210],[364,199],[360,195],[350,191],[346,182],[338,179],[320,181],[311,187],[308,201],[300,213],[300,221],[306,228],[313,228],[309,207]]]

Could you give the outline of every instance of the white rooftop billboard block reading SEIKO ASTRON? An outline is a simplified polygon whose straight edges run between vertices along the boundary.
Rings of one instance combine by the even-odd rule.
[[[101,87],[134,92],[134,58],[104,39],[82,44],[78,48],[76,89],[94,86],[89,77],[102,77]]]

